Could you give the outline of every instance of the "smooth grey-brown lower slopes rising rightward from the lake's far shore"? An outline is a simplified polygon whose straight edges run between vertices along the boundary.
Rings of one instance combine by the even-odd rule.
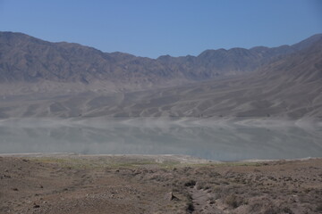
[[[137,92],[8,96],[0,117],[322,117],[322,39],[235,78]]]

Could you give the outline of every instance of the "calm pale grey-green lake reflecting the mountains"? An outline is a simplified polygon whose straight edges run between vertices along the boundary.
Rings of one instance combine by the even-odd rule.
[[[322,127],[254,119],[0,120],[0,153],[21,152],[299,159],[322,156]]]

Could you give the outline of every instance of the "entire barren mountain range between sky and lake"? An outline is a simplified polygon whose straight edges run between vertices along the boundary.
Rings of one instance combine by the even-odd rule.
[[[157,59],[0,32],[0,117],[322,116],[322,34]]]

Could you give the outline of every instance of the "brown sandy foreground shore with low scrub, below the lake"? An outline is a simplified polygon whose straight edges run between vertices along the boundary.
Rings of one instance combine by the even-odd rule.
[[[321,213],[322,159],[0,157],[0,213]]]

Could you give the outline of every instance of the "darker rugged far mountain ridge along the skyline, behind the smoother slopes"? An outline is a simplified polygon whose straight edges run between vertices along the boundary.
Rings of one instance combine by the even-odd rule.
[[[0,83],[38,83],[46,91],[59,82],[65,90],[175,86],[253,71],[278,56],[301,50],[322,34],[296,45],[208,50],[199,56],[160,56],[157,60],[127,53],[102,53],[72,44],[50,43],[21,33],[0,32]],[[44,83],[45,82],[45,83]],[[64,83],[73,83],[69,86]],[[43,86],[44,85],[44,86]],[[49,85],[49,86],[48,86]],[[32,86],[27,89],[33,91]],[[26,89],[26,90],[27,90]],[[20,91],[21,92],[21,91]],[[19,92],[17,92],[19,93]]]

